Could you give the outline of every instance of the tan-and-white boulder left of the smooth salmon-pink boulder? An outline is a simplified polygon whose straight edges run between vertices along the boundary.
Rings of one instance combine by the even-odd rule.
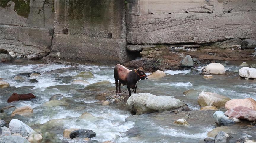
[[[221,108],[225,106],[227,101],[231,100],[230,98],[211,92],[202,91],[198,96],[198,104],[200,106],[215,106],[216,108]]]

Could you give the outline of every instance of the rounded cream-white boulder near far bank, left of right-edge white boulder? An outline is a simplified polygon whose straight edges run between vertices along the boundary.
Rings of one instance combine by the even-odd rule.
[[[225,74],[225,67],[220,63],[211,63],[204,67],[208,73],[211,74]]]

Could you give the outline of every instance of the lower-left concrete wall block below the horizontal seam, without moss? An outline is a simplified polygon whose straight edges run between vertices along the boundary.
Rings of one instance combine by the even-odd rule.
[[[51,29],[0,25],[0,47],[20,54],[47,53],[52,35]]]

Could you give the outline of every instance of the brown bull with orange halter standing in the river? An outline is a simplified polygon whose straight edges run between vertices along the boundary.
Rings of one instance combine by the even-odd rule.
[[[116,81],[116,95],[121,95],[120,86],[121,84],[123,84],[127,86],[129,91],[129,96],[131,96],[131,93],[132,93],[130,88],[134,89],[134,93],[136,93],[136,89],[137,89],[136,83],[140,79],[141,80],[148,79],[143,68],[140,67],[138,69],[129,70],[120,64],[117,64],[114,68],[114,77]],[[117,90],[117,84],[118,84],[119,92]]]

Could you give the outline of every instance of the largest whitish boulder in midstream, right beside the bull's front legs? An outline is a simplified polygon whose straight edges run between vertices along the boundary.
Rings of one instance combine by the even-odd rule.
[[[126,106],[136,115],[156,111],[166,111],[185,106],[186,104],[173,96],[156,96],[150,93],[132,94]]]

